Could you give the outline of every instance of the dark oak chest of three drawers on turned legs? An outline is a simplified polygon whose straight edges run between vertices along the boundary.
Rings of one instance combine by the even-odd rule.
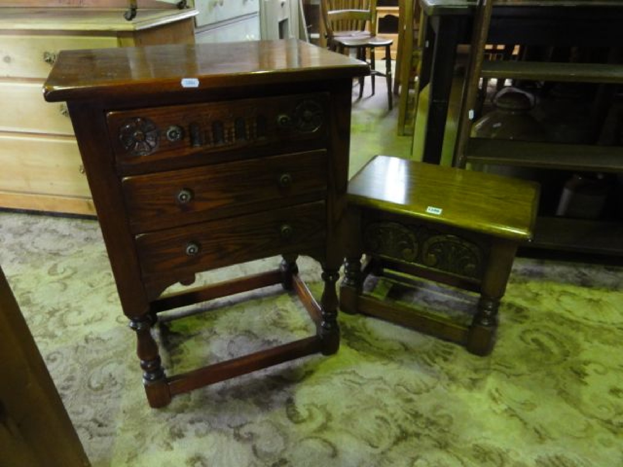
[[[297,40],[67,51],[47,82],[67,101],[150,405],[313,352],[338,349],[351,83],[363,62]],[[201,271],[282,255],[275,270],[163,295]],[[318,304],[297,255],[323,267]],[[317,333],[168,376],[159,311],[275,283]]]

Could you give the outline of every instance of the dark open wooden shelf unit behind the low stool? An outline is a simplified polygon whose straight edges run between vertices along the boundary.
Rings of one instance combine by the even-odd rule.
[[[533,167],[554,171],[623,173],[623,146],[536,143],[503,139],[473,138],[481,79],[534,80],[617,85],[623,83],[623,65],[612,63],[553,63],[485,59],[496,2],[480,2],[473,17],[470,62],[457,134],[455,165],[487,164]],[[528,19],[524,19],[528,21]],[[538,17],[530,21],[538,21]],[[586,19],[590,21],[590,19]],[[560,34],[573,34],[563,32]],[[547,45],[547,44],[543,44]],[[618,46],[621,44],[602,44]],[[531,247],[623,258],[623,219],[574,219],[543,213],[536,222]]]

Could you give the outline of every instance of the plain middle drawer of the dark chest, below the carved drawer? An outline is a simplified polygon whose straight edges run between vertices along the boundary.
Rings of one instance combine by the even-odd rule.
[[[123,179],[135,234],[324,199],[324,149]]]

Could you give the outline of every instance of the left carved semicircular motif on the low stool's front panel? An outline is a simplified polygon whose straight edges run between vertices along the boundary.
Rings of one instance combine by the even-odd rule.
[[[366,251],[408,262],[414,262],[419,251],[416,234],[397,222],[368,224],[363,243]]]

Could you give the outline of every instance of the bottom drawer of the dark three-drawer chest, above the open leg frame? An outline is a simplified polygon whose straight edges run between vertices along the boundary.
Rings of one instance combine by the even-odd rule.
[[[188,275],[321,245],[325,202],[138,235],[143,276]]]

